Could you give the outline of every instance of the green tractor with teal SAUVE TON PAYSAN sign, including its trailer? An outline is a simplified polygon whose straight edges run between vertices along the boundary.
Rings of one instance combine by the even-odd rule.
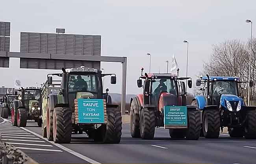
[[[85,132],[96,142],[118,144],[122,134],[122,117],[118,105],[110,104],[108,93],[103,93],[102,74],[95,68],[62,68],[61,74],[48,74],[42,88],[42,135],[55,143],[70,143],[72,132]],[[60,77],[61,81],[53,81]],[[48,92],[59,82],[58,93]],[[106,90],[108,91],[108,89]]]

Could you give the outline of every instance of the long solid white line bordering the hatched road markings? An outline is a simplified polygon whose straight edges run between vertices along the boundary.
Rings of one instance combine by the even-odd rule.
[[[46,140],[47,142],[49,142],[46,138],[43,138],[41,135],[39,135],[39,134],[37,134],[37,133],[35,133],[33,131],[30,131],[28,129],[25,129],[24,127],[21,127],[21,128],[24,129],[25,131],[29,132],[29,133],[32,133],[35,136],[38,136],[38,137],[42,138],[43,140]],[[69,149],[69,148],[67,148],[65,146],[60,145],[60,144],[56,144],[53,141],[50,141],[50,143],[53,144],[54,146],[57,146],[57,147],[63,149],[64,151],[69,152],[72,155],[75,155],[78,158],[81,158],[81,159],[91,163],[91,164],[101,164],[100,162],[97,162],[96,160],[93,160],[93,159],[91,159],[89,157],[86,157],[86,156],[84,156],[84,155],[82,155],[80,153],[77,153],[77,152],[75,152],[75,151],[73,151],[73,150],[71,150],[71,149]]]

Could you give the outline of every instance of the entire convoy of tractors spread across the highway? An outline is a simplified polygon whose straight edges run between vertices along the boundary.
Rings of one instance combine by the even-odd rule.
[[[219,138],[227,127],[230,137],[256,139],[256,107],[247,106],[239,91],[241,83],[248,82],[238,77],[201,76],[196,85],[203,85],[202,95],[187,105],[186,87],[192,87],[192,80],[177,75],[143,74],[141,69],[137,87],[143,87],[143,93],[130,100],[133,138],[152,140],[158,127],[168,129],[171,138]],[[58,74],[48,74],[42,88],[21,87],[6,94],[0,115],[11,116],[12,125],[18,127],[35,120],[42,136],[55,143],[70,143],[72,133],[85,133],[95,142],[118,144],[121,110],[112,104],[108,89],[104,93],[104,76],[111,76],[111,84],[116,84],[115,74],[102,74],[95,68],[62,68]]]

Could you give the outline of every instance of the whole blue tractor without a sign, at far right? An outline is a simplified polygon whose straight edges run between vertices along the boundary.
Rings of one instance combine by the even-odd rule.
[[[238,77],[200,77],[196,85],[204,84],[202,95],[195,96],[191,105],[201,111],[201,134],[205,138],[219,138],[220,130],[228,127],[230,137],[256,139],[256,107],[246,106],[239,93]],[[253,83],[250,82],[252,87]]]

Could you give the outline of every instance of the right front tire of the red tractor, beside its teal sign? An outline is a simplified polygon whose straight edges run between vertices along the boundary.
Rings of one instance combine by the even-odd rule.
[[[198,109],[188,109],[187,111],[187,140],[198,140],[200,137],[200,111]]]

